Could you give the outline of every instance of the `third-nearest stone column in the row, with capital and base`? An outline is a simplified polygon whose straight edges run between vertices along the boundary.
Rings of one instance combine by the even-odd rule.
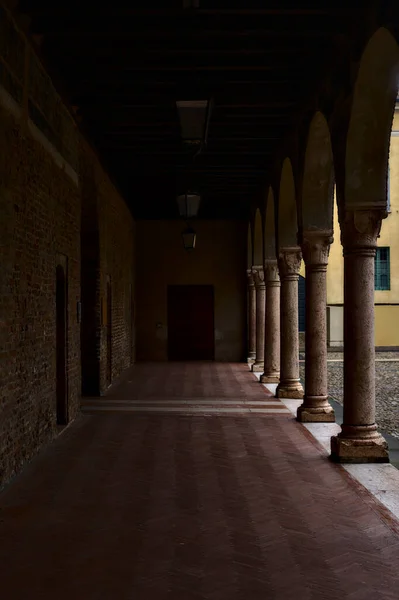
[[[278,268],[281,281],[281,372],[276,391],[278,398],[303,398],[303,388],[299,380],[298,336],[298,279],[301,259],[301,249],[298,246],[280,249]]]

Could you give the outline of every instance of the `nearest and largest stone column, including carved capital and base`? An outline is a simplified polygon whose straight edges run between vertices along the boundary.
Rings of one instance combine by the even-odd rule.
[[[374,257],[384,216],[378,209],[346,211],[341,220],[344,418],[331,438],[331,458],[338,462],[389,462],[375,423]]]

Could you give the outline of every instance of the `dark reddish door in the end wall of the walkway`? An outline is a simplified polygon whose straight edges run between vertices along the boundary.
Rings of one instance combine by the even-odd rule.
[[[168,286],[168,359],[214,360],[212,285]]]

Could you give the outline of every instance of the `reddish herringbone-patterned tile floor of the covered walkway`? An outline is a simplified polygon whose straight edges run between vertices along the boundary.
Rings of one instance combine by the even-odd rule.
[[[271,400],[220,364],[138,365],[111,396]],[[85,414],[0,507],[4,600],[399,597],[397,522],[285,414]]]

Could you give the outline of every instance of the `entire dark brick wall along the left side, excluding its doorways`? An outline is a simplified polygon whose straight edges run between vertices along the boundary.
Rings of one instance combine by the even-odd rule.
[[[67,279],[68,421],[79,413],[82,383],[95,394],[109,384],[109,346],[111,380],[133,361],[134,222],[3,9],[0,20],[8,23],[0,43],[1,486],[59,433],[57,265]],[[29,53],[24,80],[19,58]],[[102,318],[107,277],[110,335]]]

